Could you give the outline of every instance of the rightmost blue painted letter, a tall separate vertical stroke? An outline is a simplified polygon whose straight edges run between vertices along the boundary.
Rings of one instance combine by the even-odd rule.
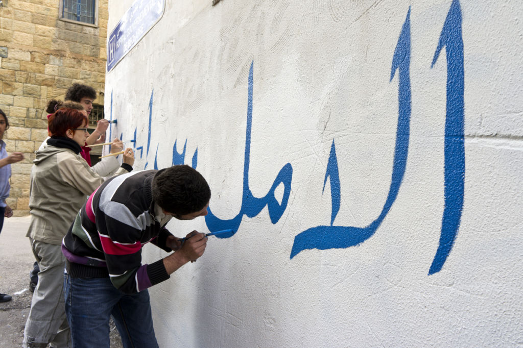
[[[439,37],[432,67],[441,49],[447,53],[447,115],[445,120],[445,208],[439,247],[428,274],[439,272],[456,240],[463,209],[465,182],[463,38],[461,9],[453,0]]]

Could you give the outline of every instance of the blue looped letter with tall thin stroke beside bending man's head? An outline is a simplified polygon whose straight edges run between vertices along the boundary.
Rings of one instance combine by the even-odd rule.
[[[258,215],[261,210],[267,205],[269,210],[269,217],[272,224],[276,224],[280,217],[287,208],[289,201],[289,195],[291,192],[291,181],[292,181],[292,166],[287,163],[278,173],[278,176],[272,183],[272,187],[269,192],[263,198],[256,198],[253,196],[251,189],[249,189],[249,162],[251,157],[251,126],[253,122],[253,66],[254,61],[251,63],[251,69],[249,69],[249,80],[248,80],[248,96],[247,96],[247,127],[245,131],[245,154],[243,164],[243,196],[242,206],[240,212],[234,218],[229,220],[220,219],[211,212],[211,208],[208,208],[208,214],[205,216],[205,222],[210,231],[218,231],[222,229],[233,229],[238,230],[242,223],[243,215],[248,217],[254,217]],[[194,160],[193,163],[195,164]],[[281,204],[278,203],[274,196],[274,191],[278,185],[283,184],[283,198]],[[223,236],[217,236],[218,238],[229,238],[234,233],[225,234]]]

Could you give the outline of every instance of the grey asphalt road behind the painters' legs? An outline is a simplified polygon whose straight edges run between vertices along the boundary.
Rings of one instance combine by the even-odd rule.
[[[30,219],[30,216],[6,218],[0,233],[0,293],[13,297],[8,302],[0,303],[0,347],[3,348],[22,345],[24,326],[31,307],[29,271],[35,257],[26,237]],[[122,347],[112,322],[111,347]]]

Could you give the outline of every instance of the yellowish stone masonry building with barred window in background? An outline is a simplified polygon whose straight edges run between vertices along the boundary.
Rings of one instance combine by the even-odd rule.
[[[0,2],[0,109],[9,118],[12,165],[7,204],[29,213],[29,176],[35,150],[47,137],[50,99],[63,100],[73,83],[95,88],[103,115],[108,0],[3,0]],[[96,120],[93,121],[93,124]]]

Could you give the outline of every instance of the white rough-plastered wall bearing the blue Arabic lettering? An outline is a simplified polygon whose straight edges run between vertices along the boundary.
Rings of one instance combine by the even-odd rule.
[[[109,28],[131,4],[109,1]],[[454,2],[462,15],[462,34],[453,38],[464,47],[455,67],[464,71],[465,170],[464,193],[449,191],[446,202],[447,92],[458,99],[460,92],[447,91],[445,48],[431,63],[451,4],[166,0],[163,18],[107,74],[106,114],[118,119],[112,136],[131,139],[137,130],[137,169],[154,167],[156,148],[157,167],[170,166],[175,141],[181,152],[187,140],[185,163],[197,150],[212,213],[232,219],[253,210],[242,208],[252,64],[249,188],[264,197],[286,164],[292,180],[277,222],[267,207],[243,215],[234,236],[210,238],[198,262],[150,289],[160,346],[523,344],[523,6]],[[391,67],[409,8],[412,113],[397,197],[359,246],[291,259],[296,236],[331,225],[329,178],[322,189],[333,141],[340,183],[338,191],[332,185],[340,195],[333,225],[363,228],[383,210],[400,108]],[[280,202],[283,191],[276,189]],[[461,198],[452,249],[429,275],[444,210],[459,218],[450,203]],[[184,236],[213,226],[199,218],[169,227]],[[148,262],[164,255],[145,248]]]

